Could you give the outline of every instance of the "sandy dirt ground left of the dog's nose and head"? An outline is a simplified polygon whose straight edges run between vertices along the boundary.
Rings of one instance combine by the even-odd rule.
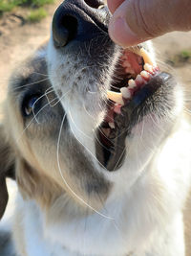
[[[12,69],[49,37],[53,12],[61,2],[48,6],[49,15],[39,23],[25,23],[23,11],[11,12],[0,19],[0,101],[5,98]]]

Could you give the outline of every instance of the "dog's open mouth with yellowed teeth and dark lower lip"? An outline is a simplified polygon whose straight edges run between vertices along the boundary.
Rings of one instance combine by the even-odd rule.
[[[97,129],[96,157],[108,171],[121,167],[138,108],[159,89],[165,75],[144,48],[123,50],[107,91],[107,114]]]

